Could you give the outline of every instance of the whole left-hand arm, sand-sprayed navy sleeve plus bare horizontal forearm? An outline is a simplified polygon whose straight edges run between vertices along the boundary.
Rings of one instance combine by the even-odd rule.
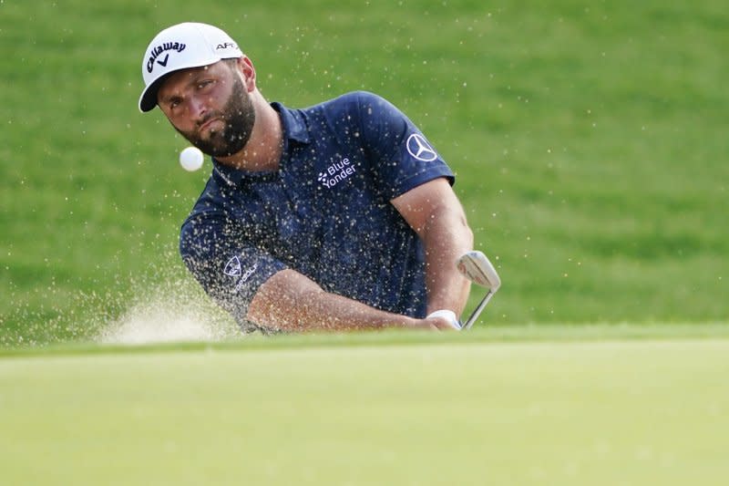
[[[241,245],[236,226],[217,213],[190,218],[180,253],[205,291],[246,330],[253,323],[282,331],[343,331],[405,327],[452,329],[447,318],[415,319],[329,294],[271,255]]]

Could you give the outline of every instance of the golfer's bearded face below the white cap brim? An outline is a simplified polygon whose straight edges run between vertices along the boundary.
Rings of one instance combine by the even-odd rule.
[[[192,145],[213,157],[241,151],[255,110],[235,65],[221,61],[172,74],[158,91],[159,108]]]

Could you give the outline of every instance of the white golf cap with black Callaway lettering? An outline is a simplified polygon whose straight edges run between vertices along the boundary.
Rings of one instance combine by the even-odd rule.
[[[218,27],[185,22],[164,29],[149,43],[142,59],[145,86],[139,109],[149,111],[157,106],[157,90],[169,73],[242,56],[231,36]]]

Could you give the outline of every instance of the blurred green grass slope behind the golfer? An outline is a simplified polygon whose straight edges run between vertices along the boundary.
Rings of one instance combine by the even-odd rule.
[[[177,237],[210,164],[137,109],[149,39],[186,20],[269,100],[367,89],[418,124],[504,281],[489,323],[726,321],[724,2],[2,0],[0,346],[202,299]]]

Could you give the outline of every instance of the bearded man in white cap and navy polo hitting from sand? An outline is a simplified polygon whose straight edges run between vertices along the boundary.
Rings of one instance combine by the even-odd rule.
[[[139,109],[212,156],[180,253],[243,331],[459,328],[473,234],[453,173],[393,105],[269,104],[252,61],[205,24],[155,36],[142,75]]]

